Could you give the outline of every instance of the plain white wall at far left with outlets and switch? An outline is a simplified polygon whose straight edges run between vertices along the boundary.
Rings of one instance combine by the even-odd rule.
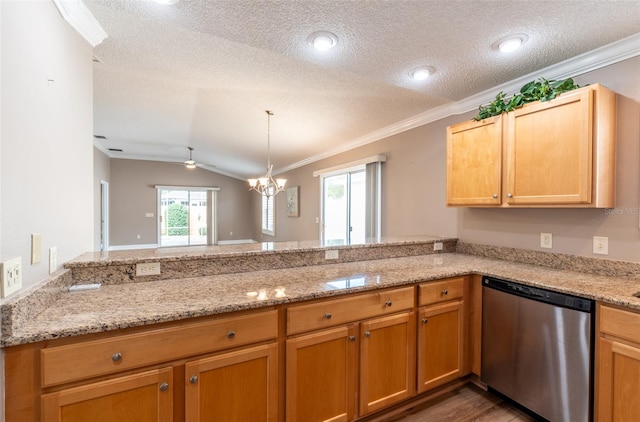
[[[0,8],[0,259],[22,257],[27,288],[48,277],[50,247],[58,268],[93,247],[93,50],[53,2]]]

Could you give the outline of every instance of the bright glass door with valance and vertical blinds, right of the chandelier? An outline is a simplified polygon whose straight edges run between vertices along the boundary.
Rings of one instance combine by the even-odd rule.
[[[364,243],[381,235],[384,155],[314,172],[320,176],[323,245]]]

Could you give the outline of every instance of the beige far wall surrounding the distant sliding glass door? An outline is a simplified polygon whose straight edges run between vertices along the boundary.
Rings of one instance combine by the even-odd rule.
[[[157,243],[156,185],[219,187],[218,240],[253,239],[252,196],[246,182],[180,164],[111,159],[110,246]],[[145,217],[146,213],[154,217]]]

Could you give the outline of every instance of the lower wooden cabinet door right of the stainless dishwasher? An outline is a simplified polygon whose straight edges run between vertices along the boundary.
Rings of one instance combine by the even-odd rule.
[[[597,420],[640,421],[640,346],[599,339]]]

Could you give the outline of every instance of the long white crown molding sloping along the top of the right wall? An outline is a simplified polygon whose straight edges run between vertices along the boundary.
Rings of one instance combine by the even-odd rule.
[[[313,157],[309,157],[305,160],[298,161],[297,163],[293,163],[285,167],[281,167],[277,169],[277,172],[274,172],[274,175],[306,166],[308,164],[328,157],[332,157],[334,155],[352,150],[354,148],[367,145],[393,135],[397,135],[407,130],[414,129],[416,127],[423,126],[440,119],[444,119],[445,117],[475,110],[478,108],[478,105],[491,102],[495,98],[496,92],[517,92],[525,83],[543,76],[547,79],[566,79],[579,76],[584,73],[591,72],[593,70],[600,69],[602,67],[609,66],[611,64],[618,63],[632,57],[636,57],[638,55],[640,55],[640,32],[630,37],[623,38],[622,40],[616,41],[614,43],[565,60],[563,62],[521,76],[520,78],[514,79],[504,84],[479,92],[478,94],[472,95],[460,101],[435,107],[424,113],[409,117],[408,119],[399,121],[390,126],[370,132],[350,142],[347,141],[339,148],[315,155]]]

